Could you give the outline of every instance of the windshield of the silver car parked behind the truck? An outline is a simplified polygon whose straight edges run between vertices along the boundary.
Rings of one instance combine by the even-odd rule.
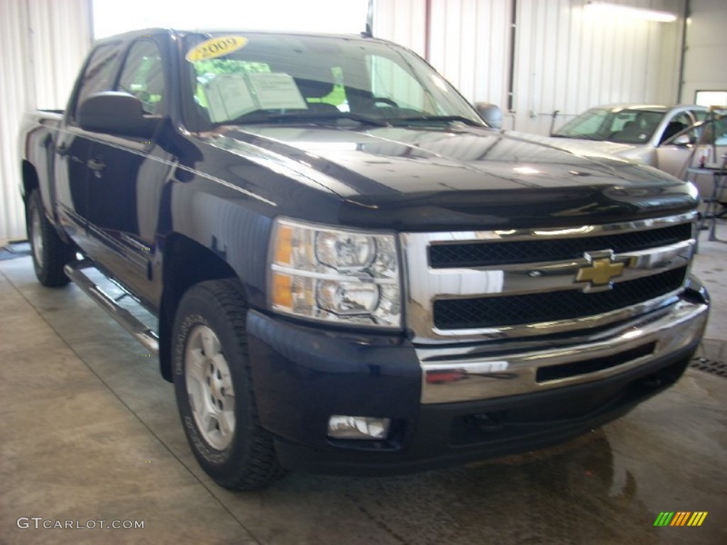
[[[591,108],[553,133],[554,137],[645,144],[664,113],[654,110]]]

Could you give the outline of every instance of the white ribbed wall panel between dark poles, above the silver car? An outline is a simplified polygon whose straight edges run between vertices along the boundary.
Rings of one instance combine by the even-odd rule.
[[[582,0],[517,0],[515,129],[547,134],[595,105],[676,102],[680,21],[595,17]],[[683,14],[685,0],[618,3]]]

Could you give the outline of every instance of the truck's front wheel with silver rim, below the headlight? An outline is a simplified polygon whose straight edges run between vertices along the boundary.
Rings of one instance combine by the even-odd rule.
[[[202,469],[238,491],[265,488],[283,473],[257,416],[245,315],[237,280],[209,280],[182,296],[172,330],[174,390],[187,440]]]

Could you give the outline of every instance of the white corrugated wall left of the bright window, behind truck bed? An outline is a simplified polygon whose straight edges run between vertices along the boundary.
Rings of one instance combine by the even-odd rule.
[[[91,44],[89,0],[0,1],[0,243],[25,238],[17,132],[23,111],[64,108]]]

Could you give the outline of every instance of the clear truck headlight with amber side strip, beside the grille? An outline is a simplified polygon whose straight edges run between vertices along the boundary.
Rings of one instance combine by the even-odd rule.
[[[394,235],[277,219],[269,278],[270,307],[278,312],[401,327]]]

